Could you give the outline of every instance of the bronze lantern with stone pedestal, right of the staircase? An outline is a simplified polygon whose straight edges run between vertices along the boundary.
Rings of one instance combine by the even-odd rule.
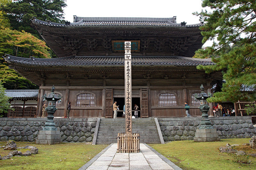
[[[211,94],[204,93],[204,86],[200,86],[201,93],[195,94],[195,98],[200,101],[200,111],[202,112],[202,121],[199,125],[199,128],[196,130],[195,133],[195,142],[213,142],[213,141],[220,141],[220,137],[218,136],[217,130],[213,128],[211,122],[208,119],[208,111],[209,105],[207,102],[207,98],[211,97]]]

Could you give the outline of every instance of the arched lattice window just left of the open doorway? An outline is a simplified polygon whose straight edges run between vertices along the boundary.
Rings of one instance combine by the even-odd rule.
[[[93,107],[95,106],[95,95],[91,93],[82,93],[76,97],[76,106]]]

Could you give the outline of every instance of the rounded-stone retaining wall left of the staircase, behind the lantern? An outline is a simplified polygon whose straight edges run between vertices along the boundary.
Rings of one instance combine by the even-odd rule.
[[[35,141],[44,118],[0,118],[0,141]],[[92,142],[97,118],[54,119],[62,142]]]

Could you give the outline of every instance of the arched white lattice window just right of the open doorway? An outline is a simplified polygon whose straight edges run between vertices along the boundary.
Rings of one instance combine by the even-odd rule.
[[[177,106],[176,95],[173,93],[160,94],[158,106]]]

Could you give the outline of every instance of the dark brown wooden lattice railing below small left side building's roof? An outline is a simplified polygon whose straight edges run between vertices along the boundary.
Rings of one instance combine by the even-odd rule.
[[[28,106],[26,108],[22,108],[20,106],[12,107],[14,111],[11,109],[8,110],[7,117],[35,117],[36,116],[36,107]]]

